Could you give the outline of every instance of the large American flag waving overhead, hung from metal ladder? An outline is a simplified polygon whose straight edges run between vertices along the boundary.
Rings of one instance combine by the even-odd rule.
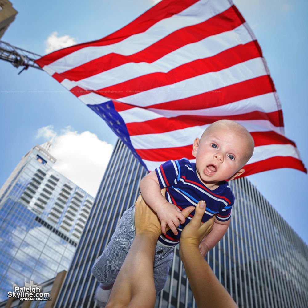
[[[113,34],[36,63],[101,116],[149,171],[169,159],[194,161],[193,140],[230,119],[255,141],[244,175],[307,172],[284,136],[261,48],[229,0],[162,0]]]

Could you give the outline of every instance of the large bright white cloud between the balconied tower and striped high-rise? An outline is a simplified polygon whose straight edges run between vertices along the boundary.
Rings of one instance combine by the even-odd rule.
[[[51,155],[57,160],[53,166],[57,172],[95,197],[107,168],[113,146],[101,141],[91,132],[74,132],[71,126],[56,135],[53,125],[38,129],[37,138],[52,141]]]

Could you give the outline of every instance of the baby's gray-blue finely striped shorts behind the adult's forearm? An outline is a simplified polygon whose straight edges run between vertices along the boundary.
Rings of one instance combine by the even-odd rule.
[[[133,209],[134,205],[123,213],[111,241],[92,267],[92,274],[103,286],[110,286],[115,282],[132,245],[135,237],[135,226],[132,220]],[[169,265],[173,258],[173,249],[173,247],[156,245],[153,264],[156,295],[166,284]]]

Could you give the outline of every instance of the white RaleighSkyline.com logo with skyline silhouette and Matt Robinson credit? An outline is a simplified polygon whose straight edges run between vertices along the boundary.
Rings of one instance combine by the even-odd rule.
[[[33,281],[25,282],[25,286],[13,285],[13,291],[7,292],[7,297],[18,298],[23,301],[51,301],[49,292],[42,292],[42,286],[34,285]]]

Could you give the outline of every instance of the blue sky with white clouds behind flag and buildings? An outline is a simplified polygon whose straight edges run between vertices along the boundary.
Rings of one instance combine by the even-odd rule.
[[[47,39],[83,43],[100,39],[151,7],[151,0],[97,1],[11,0],[18,11],[2,41],[44,55]],[[252,28],[265,56],[282,104],[286,136],[308,167],[307,40],[308,2],[234,1]],[[54,44],[55,42],[53,42]],[[52,154],[58,171],[94,194],[116,136],[94,112],[43,71],[0,61],[0,185],[35,144],[56,134]],[[85,163],[83,163],[85,162]],[[55,166],[56,167],[56,166]],[[303,197],[307,175],[278,169],[249,180],[308,243],[308,202]]]

